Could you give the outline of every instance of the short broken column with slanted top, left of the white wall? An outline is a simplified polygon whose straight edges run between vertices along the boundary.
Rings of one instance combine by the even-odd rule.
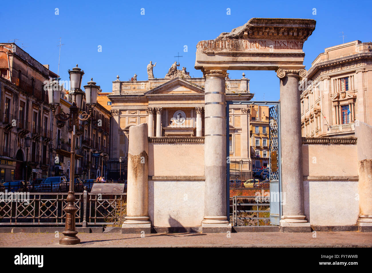
[[[129,128],[127,216],[122,233],[150,233],[148,216],[148,126]]]

